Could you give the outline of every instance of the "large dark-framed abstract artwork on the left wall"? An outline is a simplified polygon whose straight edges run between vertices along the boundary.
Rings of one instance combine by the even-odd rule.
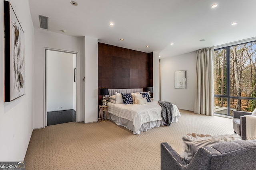
[[[24,31],[8,1],[4,1],[4,102],[25,94]]]

